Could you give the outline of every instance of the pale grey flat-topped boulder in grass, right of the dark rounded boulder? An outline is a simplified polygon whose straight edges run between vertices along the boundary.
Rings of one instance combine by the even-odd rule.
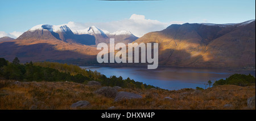
[[[130,93],[130,92],[118,92],[117,96],[115,96],[115,102],[121,100],[130,100],[130,99],[139,99],[142,98],[139,94]]]

